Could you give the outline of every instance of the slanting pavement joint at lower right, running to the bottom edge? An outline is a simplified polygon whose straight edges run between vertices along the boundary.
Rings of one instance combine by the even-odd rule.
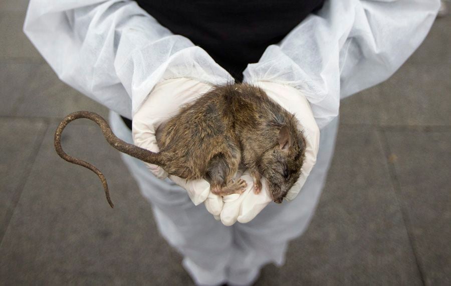
[[[417,255],[417,251],[416,251],[417,247],[416,247],[416,244],[415,244],[414,235],[412,233],[412,224],[410,223],[410,219],[409,219],[409,216],[408,216],[408,210],[406,209],[406,207],[404,207],[404,204],[400,200],[400,196],[401,196],[400,188],[401,188],[401,185],[400,185],[397,173],[396,173],[396,169],[395,169],[394,163],[390,162],[388,160],[388,157],[391,154],[391,149],[390,149],[390,144],[388,143],[388,139],[387,139],[387,136],[386,136],[386,131],[387,130],[384,130],[383,128],[379,128],[376,131],[377,131],[377,133],[379,135],[378,136],[379,137],[379,144],[381,145],[382,150],[385,152],[384,153],[384,155],[385,155],[384,160],[385,160],[386,166],[388,168],[388,175],[390,177],[390,181],[391,181],[391,184],[392,184],[392,187],[393,187],[393,193],[394,193],[394,196],[395,196],[395,199],[396,199],[396,203],[398,204],[399,209],[401,211],[402,220],[403,220],[404,226],[406,228],[407,237],[409,239],[409,243],[410,243],[410,247],[412,249],[413,256],[415,257],[415,263],[416,263],[416,266],[418,268],[418,272],[419,272],[419,275],[420,275],[420,278],[421,278],[421,282],[422,282],[423,286],[425,286],[426,285],[426,281],[425,281],[425,277],[424,277],[425,276],[425,274],[424,274],[425,273],[425,269],[424,269],[424,266],[423,266],[421,260],[419,259],[418,255]]]

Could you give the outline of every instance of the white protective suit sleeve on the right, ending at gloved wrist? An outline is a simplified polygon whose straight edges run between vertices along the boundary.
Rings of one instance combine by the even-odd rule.
[[[439,0],[326,0],[279,44],[270,45],[245,81],[299,89],[321,128],[344,98],[396,71],[426,36]]]

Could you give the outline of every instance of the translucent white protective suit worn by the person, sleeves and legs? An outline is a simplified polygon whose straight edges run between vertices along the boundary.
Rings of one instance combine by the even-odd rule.
[[[124,155],[161,233],[183,253],[197,283],[245,284],[263,264],[283,262],[288,240],[308,225],[324,184],[340,98],[389,77],[421,43],[438,7],[438,0],[326,0],[249,64],[246,81],[301,90],[321,128],[317,163],[297,198],[270,203],[249,223],[222,225],[186,192]],[[131,118],[156,83],[233,80],[202,48],[130,0],[31,0],[24,30],[63,81],[115,111],[112,127],[129,142],[131,132],[117,113]]]

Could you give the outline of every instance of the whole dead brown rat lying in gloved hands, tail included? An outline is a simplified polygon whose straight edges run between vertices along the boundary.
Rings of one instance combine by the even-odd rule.
[[[255,192],[261,191],[261,176],[265,176],[271,197],[280,203],[299,178],[305,157],[306,143],[295,116],[261,88],[245,83],[215,86],[183,106],[162,127],[157,138],[159,153],[117,138],[106,120],[94,112],[73,112],[55,132],[55,149],[63,159],[89,168],[100,177],[111,207],[114,205],[100,170],[62,149],[63,129],[78,118],[96,122],[117,150],[157,164],[172,175],[205,178],[210,190],[218,195],[245,190],[245,180],[233,180],[242,164],[254,178]]]

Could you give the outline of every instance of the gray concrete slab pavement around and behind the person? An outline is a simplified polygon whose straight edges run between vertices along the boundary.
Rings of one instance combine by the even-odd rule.
[[[114,210],[97,176],[56,155],[59,119],[107,110],[41,58],[22,33],[26,6],[0,0],[0,284],[192,284],[93,124],[63,140],[108,177]],[[341,102],[316,215],[257,284],[451,284],[450,26],[437,19],[394,76]]]

